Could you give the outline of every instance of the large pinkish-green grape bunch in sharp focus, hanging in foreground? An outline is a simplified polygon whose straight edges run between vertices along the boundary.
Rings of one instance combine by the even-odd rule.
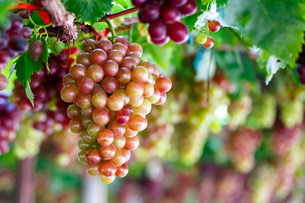
[[[142,47],[126,37],[84,40],[83,52],[63,78],[61,98],[69,126],[79,133],[78,159],[104,183],[128,173],[130,151],[139,145],[138,131],[147,127],[152,104],[166,100],[172,81],[156,65],[141,59]]]

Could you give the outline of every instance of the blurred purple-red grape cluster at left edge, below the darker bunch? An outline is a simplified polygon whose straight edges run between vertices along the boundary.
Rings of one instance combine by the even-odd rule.
[[[0,94],[0,155],[9,150],[8,142],[15,139],[21,118],[21,111]]]

